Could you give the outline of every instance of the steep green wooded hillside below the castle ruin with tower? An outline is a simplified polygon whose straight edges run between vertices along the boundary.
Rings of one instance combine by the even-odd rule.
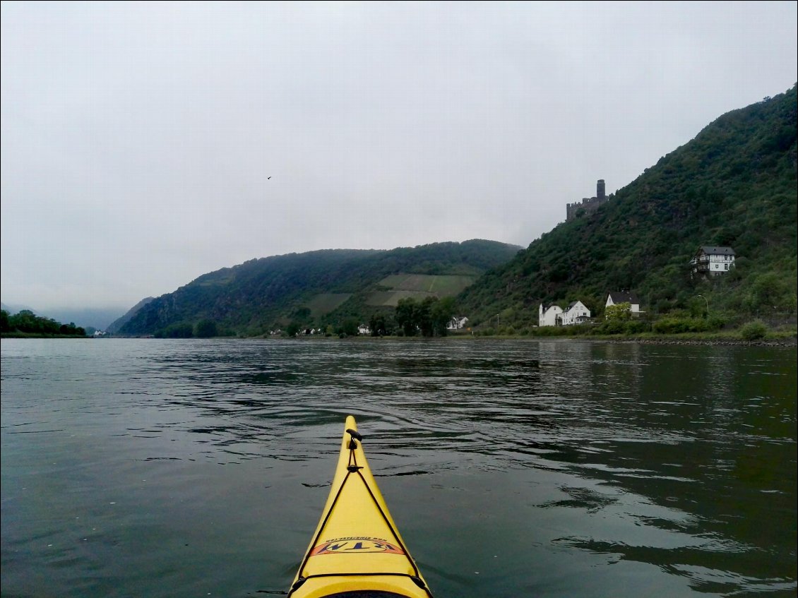
[[[796,108],[793,86],[721,116],[595,214],[583,210],[464,289],[463,313],[525,328],[541,302],[579,299],[596,316],[607,293],[630,289],[649,316],[694,310],[703,297],[729,317],[794,314]],[[731,246],[737,267],[690,277],[702,245]]]

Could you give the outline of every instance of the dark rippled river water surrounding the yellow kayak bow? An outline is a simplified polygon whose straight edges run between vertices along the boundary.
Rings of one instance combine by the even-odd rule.
[[[355,415],[437,598],[796,596],[796,349],[2,340],[2,596],[285,591]]]

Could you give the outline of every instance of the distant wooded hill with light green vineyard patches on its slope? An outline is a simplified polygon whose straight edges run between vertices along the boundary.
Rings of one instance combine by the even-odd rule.
[[[219,332],[257,336],[284,328],[368,321],[402,297],[448,297],[521,248],[473,239],[394,250],[287,254],[204,274],[149,301],[121,325],[125,335],[212,321]]]

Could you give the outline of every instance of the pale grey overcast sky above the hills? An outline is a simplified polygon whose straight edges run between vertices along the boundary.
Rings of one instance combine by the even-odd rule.
[[[527,246],[787,91],[796,2],[2,2],[2,301]],[[121,312],[120,312],[121,313]]]

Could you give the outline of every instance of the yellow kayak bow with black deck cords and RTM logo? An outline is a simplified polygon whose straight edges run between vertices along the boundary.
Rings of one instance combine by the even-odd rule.
[[[330,496],[299,567],[290,598],[431,598],[374,481],[354,417],[346,418]]]

